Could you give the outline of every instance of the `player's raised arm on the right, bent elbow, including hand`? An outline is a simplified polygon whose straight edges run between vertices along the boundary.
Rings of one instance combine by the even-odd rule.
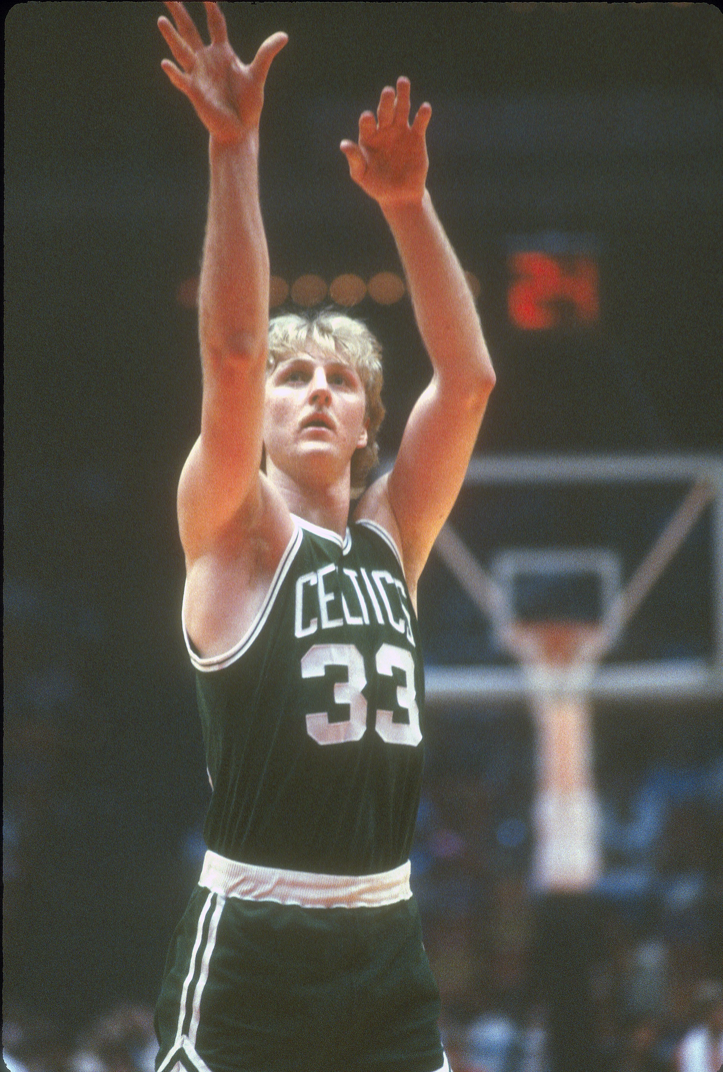
[[[431,116],[422,104],[409,124],[409,81],[398,78],[396,93],[382,91],[376,117],[361,116],[358,144],[341,146],[351,178],[392,230],[433,367],[392,472],[358,507],[396,528],[412,591],[460,492],[495,385],[475,300],[425,188]]]

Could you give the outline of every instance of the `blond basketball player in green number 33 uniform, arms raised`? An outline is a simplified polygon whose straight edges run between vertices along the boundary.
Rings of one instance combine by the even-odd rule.
[[[210,134],[201,428],[178,518],[212,796],[156,1009],[156,1067],[434,1072],[447,1066],[439,999],[408,864],[416,591],[494,373],[425,190],[431,108],[409,124],[400,78],[341,146],[392,229],[434,370],[391,473],[364,490],[383,413],[376,340],[331,313],[268,323],[258,122],[286,35],[245,66],[215,4],[210,45],[181,3],[167,6],[175,26],[159,27],[176,63],[163,69]]]

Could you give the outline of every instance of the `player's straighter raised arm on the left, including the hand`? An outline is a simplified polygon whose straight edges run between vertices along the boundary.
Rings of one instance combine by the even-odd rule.
[[[204,399],[201,431],[178,493],[190,567],[259,500],[269,256],[258,199],[258,122],[271,62],[286,44],[275,33],[250,65],[228,43],[215,3],[206,3],[206,45],[182,3],[159,19],[176,60],[164,60],[209,131],[210,193],[198,310]]]

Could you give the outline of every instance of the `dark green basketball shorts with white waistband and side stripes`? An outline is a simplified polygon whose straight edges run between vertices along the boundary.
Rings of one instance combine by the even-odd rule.
[[[448,1070],[408,876],[208,853],[168,952],[156,1072]]]

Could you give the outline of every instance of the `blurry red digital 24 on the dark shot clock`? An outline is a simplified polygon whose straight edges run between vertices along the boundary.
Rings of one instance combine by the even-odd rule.
[[[582,254],[514,253],[507,292],[510,319],[524,331],[589,327],[600,317],[598,264]]]

